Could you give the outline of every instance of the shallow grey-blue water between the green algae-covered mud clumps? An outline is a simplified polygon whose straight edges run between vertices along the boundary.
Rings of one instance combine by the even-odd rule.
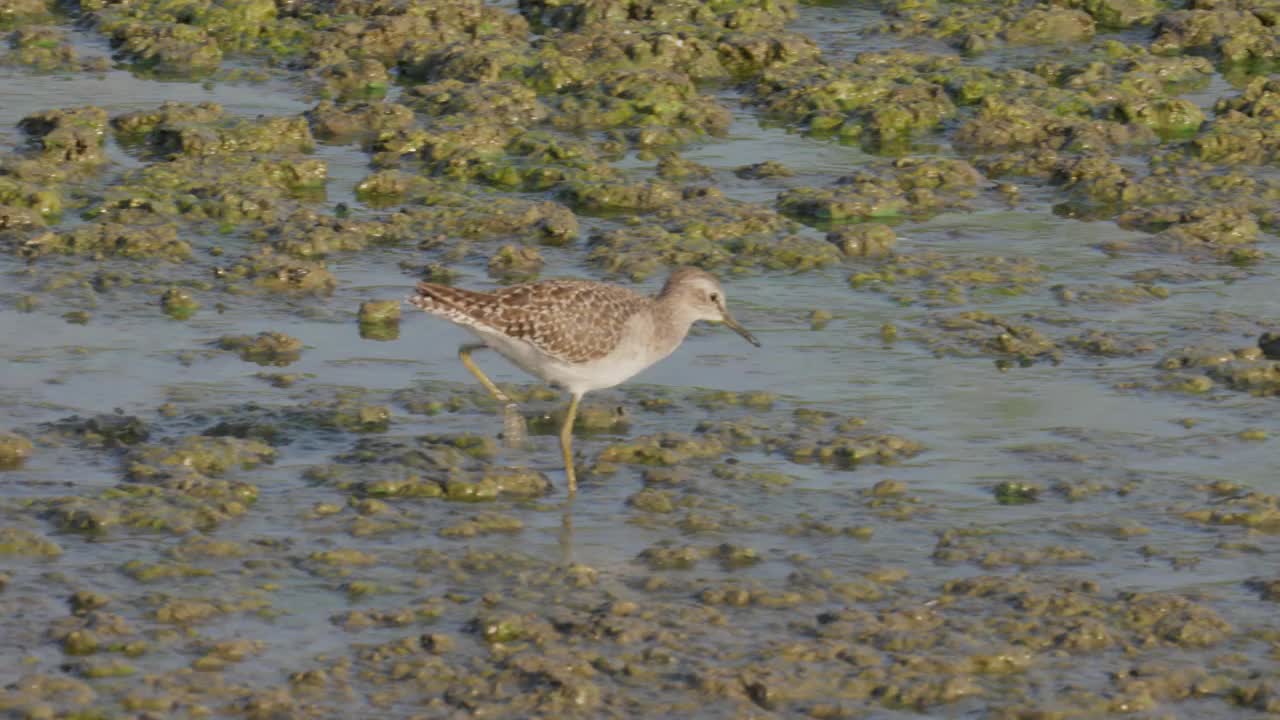
[[[854,53],[861,45],[851,33],[863,15],[833,15],[833,8],[808,8],[794,26],[812,31],[824,50]],[[874,14],[868,10],[867,14]],[[846,28],[832,27],[838,17]],[[819,28],[828,27],[822,31]],[[873,41],[874,42],[874,41]],[[883,46],[901,45],[884,40]],[[874,46],[874,45],[873,45]],[[49,76],[14,68],[0,68],[0,138],[20,141],[17,122],[40,109],[97,105],[110,114],[151,108],[161,101],[180,100],[220,102],[239,117],[296,115],[312,105],[296,87],[283,81],[265,83],[234,82],[155,82],[111,70],[102,76]],[[1226,92],[1216,78],[1211,86]],[[1208,91],[1206,91],[1208,92]],[[1210,100],[1211,105],[1212,101]],[[129,152],[109,141],[109,156],[116,169],[137,163]],[[355,146],[321,145],[317,156],[329,163],[326,204],[344,202],[357,215],[376,217],[355,200],[356,182],[369,173],[367,156]],[[712,168],[713,184],[733,199],[772,202],[787,187],[824,186],[835,178],[873,159],[868,152],[828,141],[806,138],[781,128],[763,128],[753,111],[735,108],[735,123],[724,138],[709,140],[687,149],[684,156]],[[790,178],[741,181],[732,170],[760,160],[777,160],[795,170]],[[622,163],[637,174],[652,170],[649,160],[628,158]],[[220,615],[200,625],[198,637],[207,639],[253,638],[265,647],[248,660],[233,664],[223,673],[228,684],[270,688],[285,683],[291,673],[329,666],[358,655],[356,646],[371,646],[401,638],[403,628],[376,628],[360,633],[335,629],[330,618],[351,609],[402,607],[422,596],[452,592],[466,600],[445,602],[440,618],[429,632],[463,638],[460,653],[484,657],[483,647],[467,641],[468,626],[489,594],[511,594],[511,607],[536,611],[539,601],[527,597],[522,580],[503,573],[483,571],[433,575],[413,565],[415,553],[440,551],[462,557],[471,551],[493,551],[500,557],[529,557],[529,570],[563,568],[573,564],[594,569],[598,584],[591,597],[635,600],[641,605],[653,597],[640,591],[652,577],[669,579],[671,589],[658,597],[675,605],[695,605],[698,588],[726,580],[758,583],[765,588],[787,587],[787,578],[800,570],[822,568],[840,577],[855,578],[881,568],[901,569],[906,577],[886,591],[886,602],[927,603],[941,594],[943,582],[982,574],[1012,575],[1019,571],[1052,577],[1087,578],[1101,585],[1103,594],[1119,592],[1172,592],[1196,597],[1212,607],[1240,633],[1210,651],[1176,648],[1167,651],[1170,661],[1190,659],[1204,662],[1215,652],[1236,652],[1240,665],[1263,667],[1274,662],[1274,650],[1266,642],[1251,641],[1245,629],[1258,638],[1276,633],[1274,603],[1243,583],[1260,575],[1274,575],[1280,538],[1251,533],[1236,527],[1199,525],[1180,518],[1181,509],[1206,505],[1193,488],[1217,479],[1229,479],[1265,493],[1280,492],[1275,474],[1275,442],[1280,419],[1274,397],[1217,389],[1203,396],[1162,392],[1126,383],[1151,382],[1152,364],[1164,351],[1210,342],[1215,346],[1249,346],[1257,331],[1280,316],[1280,296],[1275,293],[1276,274],[1271,259],[1228,279],[1211,278],[1170,284],[1170,297],[1157,302],[1132,305],[1062,306],[1051,286],[1088,283],[1129,284],[1130,273],[1178,260],[1151,254],[1110,256],[1098,246],[1110,241],[1133,241],[1144,233],[1125,231],[1110,222],[1080,222],[1057,217],[1053,205],[1061,201],[1048,187],[1027,187],[1016,205],[1004,205],[983,196],[969,213],[945,213],[923,222],[896,225],[897,250],[932,250],[946,258],[1006,255],[1033,258],[1042,265],[1044,281],[1020,296],[980,296],[969,305],[933,309],[920,304],[904,305],[887,292],[851,290],[850,268],[836,266],[803,274],[760,273],[730,278],[726,282],[730,305],[736,318],[763,341],[753,348],[723,329],[698,328],[668,360],[641,374],[636,380],[589,397],[589,404],[621,405],[630,411],[631,427],[621,432],[582,436],[580,454],[594,457],[607,443],[622,442],[659,430],[692,432],[700,420],[758,415],[767,423],[785,421],[794,407],[828,410],[858,416],[882,432],[900,434],[923,445],[923,452],[891,466],[864,465],[833,469],[817,464],[796,464],[782,454],[753,450],[733,451],[741,466],[785,473],[794,483],[771,488],[750,483],[726,483],[712,477],[707,465],[695,465],[689,480],[692,507],[719,520],[709,532],[682,530],[673,516],[654,516],[628,505],[641,489],[641,473],[623,466],[613,475],[586,478],[576,500],[563,505],[563,473],[558,466],[554,436],[534,436],[532,446],[504,451],[504,462],[529,465],[545,473],[556,486],[540,501],[498,501],[475,507],[439,500],[396,503],[390,516],[406,523],[404,529],[372,536],[352,533],[353,511],[343,510],[351,496],[323,482],[312,482],[303,471],[332,462],[358,437],[334,429],[291,430],[287,443],[278,447],[270,466],[246,470],[238,477],[260,489],[251,510],[221,523],[207,534],[216,539],[247,543],[248,557],[214,559],[202,566],[206,577],[177,582],[141,584],[122,574],[129,560],[157,561],[172,552],[179,538],[141,530],[118,530],[106,536],[58,533],[40,518],[26,511],[23,502],[51,495],[88,495],[120,482],[115,459],[99,451],[65,443],[38,445],[22,469],[0,475],[0,525],[14,524],[36,529],[58,542],[63,555],[47,564],[0,557],[0,569],[10,574],[0,594],[5,620],[0,620],[0,684],[9,684],[31,673],[58,673],[65,657],[44,633],[45,625],[67,614],[65,597],[77,589],[92,588],[108,596],[138,598],[146,593],[180,597],[211,597],[218,601],[260,598],[268,611],[242,610]],[[77,222],[69,213],[67,223]],[[609,220],[584,220],[585,227]],[[805,231],[818,234],[817,231]],[[193,243],[223,242],[218,237],[192,238]],[[227,238],[234,246],[238,238]],[[1265,233],[1260,246],[1274,252],[1276,238]],[[582,243],[563,250],[547,249],[544,277],[593,277],[584,263]],[[198,433],[218,419],[257,405],[285,410],[311,400],[332,398],[337,392],[353,391],[362,401],[392,407],[387,434],[415,438],[431,433],[476,433],[493,437],[500,429],[495,415],[470,407],[460,413],[425,416],[403,411],[390,393],[406,388],[461,393],[472,388],[472,378],[456,359],[456,347],[470,336],[447,323],[406,314],[399,338],[390,342],[361,340],[356,309],[367,299],[397,299],[408,292],[411,275],[397,264],[421,258],[411,247],[369,249],[334,256],[329,268],[338,278],[330,296],[275,300],[259,296],[228,297],[225,310],[216,311],[212,301],[187,322],[174,322],[160,314],[155,297],[119,293],[99,299],[87,324],[65,323],[61,313],[77,309],[67,301],[50,301],[32,313],[18,311],[18,297],[29,292],[26,261],[15,254],[0,256],[0,359],[4,382],[0,386],[0,429],[38,434],[42,424],[72,415],[92,416],[123,413],[138,415],[152,427],[152,441]],[[42,259],[45,268],[61,264],[73,268],[74,259]],[[123,261],[122,261],[123,263]],[[108,263],[104,266],[110,266]],[[462,270],[462,286],[490,287],[483,258],[468,258],[456,265]],[[654,290],[653,278],[643,287]],[[211,293],[206,293],[212,297]],[[114,300],[113,300],[114,297]],[[833,315],[823,329],[809,327],[809,313],[820,309]],[[1093,359],[1068,355],[1061,364],[1038,363],[1028,368],[1002,370],[989,356],[934,355],[904,332],[896,341],[882,340],[886,324],[918,327],[938,313],[980,309],[1016,315],[1065,314],[1079,327],[1103,327],[1137,333],[1158,342],[1156,352],[1134,357]],[[280,331],[305,345],[301,359],[287,369],[260,368],[243,363],[229,352],[207,352],[215,338],[228,333],[253,334]],[[526,378],[494,356],[481,356],[499,383],[524,384]],[[296,386],[275,388],[262,382],[261,372],[301,374]],[[703,409],[684,402],[694,389],[750,392],[778,396],[773,410],[742,407]],[[673,410],[643,410],[643,398],[672,396]],[[165,405],[178,407],[175,419],[157,413]],[[539,401],[534,407],[549,410],[554,404]],[[1183,420],[1193,418],[1194,427]],[[1238,437],[1242,430],[1267,433],[1261,442]],[[905,483],[908,495],[920,510],[893,521],[876,515],[863,491],[893,479]],[[1004,480],[1029,482],[1043,492],[1038,502],[1001,505],[992,488]],[[1073,486],[1098,483],[1100,492],[1068,500],[1052,491],[1056,483]],[[1117,488],[1124,487],[1123,492]],[[335,503],[333,515],[315,512],[317,503]],[[494,510],[518,518],[524,529],[516,533],[484,534],[467,539],[436,536],[436,530],[476,510]],[[680,515],[680,514],[676,514]],[[874,525],[870,539],[844,534],[796,532],[810,519],[837,528]],[[1115,534],[1108,528],[1139,524],[1144,534]],[[933,556],[940,533],[955,528],[982,528],[992,533],[992,548],[1038,548],[1070,546],[1085,553],[1083,560],[1055,565],[977,561],[948,562]],[[1092,529],[1091,529],[1092,528]],[[1224,542],[1254,546],[1251,552],[1228,552]],[[652,570],[637,561],[644,548],[663,544],[714,547],[732,543],[756,550],[762,561],[745,569],[723,570],[714,560],[698,562],[691,570]],[[1160,550],[1142,552],[1140,546]],[[375,555],[380,562],[353,570],[355,577],[383,585],[381,593],[351,598],[337,575],[308,570],[307,557],[328,548],[357,548]],[[1193,560],[1185,564],[1171,559]],[[517,568],[524,561],[512,561]],[[545,565],[544,565],[545,564]],[[339,573],[340,574],[340,573]],[[545,600],[543,601],[545,602]],[[568,602],[568,601],[566,601]],[[497,601],[493,601],[497,603]],[[750,655],[750,648],[785,643],[791,637],[788,623],[812,619],[824,609],[846,605],[837,598],[790,610],[742,610],[730,626],[705,634],[692,634],[699,648],[723,651],[728,665]],[[116,612],[127,612],[109,606]],[[728,611],[732,612],[732,611]],[[137,620],[141,623],[140,620]],[[419,630],[428,632],[428,630]],[[684,632],[692,633],[687,628]],[[1274,637],[1274,635],[1272,635]],[[165,644],[157,651],[131,660],[141,674],[164,674],[184,667],[198,655],[196,638]],[[1107,656],[1107,673],[1123,667],[1119,651]],[[1106,673],[1080,673],[1071,662],[1046,662],[1028,671],[1042,687],[1069,682],[1085,688],[1106,687]],[[119,688],[122,680],[93,680]],[[600,682],[600,680],[598,680]],[[114,685],[113,685],[114,683]],[[672,687],[680,683],[672,682]],[[367,687],[353,682],[352,696],[342,692],[312,694],[319,715],[342,716],[361,712]],[[659,684],[657,696],[675,691]],[[1052,691],[1039,691],[1050,698]],[[1036,697],[1036,693],[1030,693]],[[733,707],[709,705],[707,716],[731,716]],[[1192,712],[1194,703],[1176,707]],[[1221,703],[1212,712],[1248,711]],[[943,706],[947,715],[983,714],[991,705],[970,698]],[[393,702],[387,716],[407,716],[412,703]],[[891,710],[876,712],[890,716]],[[896,712],[895,712],[896,714]],[[768,716],[768,714],[763,715]],[[781,715],[778,715],[781,716]]]

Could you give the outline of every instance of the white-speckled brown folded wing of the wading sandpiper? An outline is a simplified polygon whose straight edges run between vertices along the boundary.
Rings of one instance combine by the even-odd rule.
[[[630,290],[590,281],[544,281],[494,292],[424,282],[410,301],[460,325],[524,340],[564,363],[608,355],[627,319],[650,302]]]

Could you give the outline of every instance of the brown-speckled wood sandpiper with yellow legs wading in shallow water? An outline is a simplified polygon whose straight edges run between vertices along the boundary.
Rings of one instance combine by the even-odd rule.
[[[613,284],[553,279],[476,292],[421,282],[410,302],[475,334],[458,357],[506,411],[504,427],[522,436],[516,404],[475,364],[471,354],[490,348],[517,368],[570,392],[561,427],[561,454],[568,492],[577,492],[573,473],[573,420],[582,396],[613,387],[680,347],[698,320],[724,323],[748,342],[760,342],[733,320],[724,291],[714,275],[677,268],[652,297]]]

